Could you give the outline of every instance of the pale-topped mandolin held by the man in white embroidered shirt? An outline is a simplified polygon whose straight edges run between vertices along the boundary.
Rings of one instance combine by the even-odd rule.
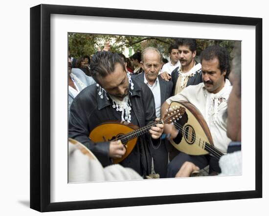
[[[170,140],[171,144],[188,155],[211,154],[218,159],[222,157],[224,154],[214,147],[210,130],[200,111],[186,101],[173,101],[170,107],[173,106],[185,108],[185,113],[174,122],[179,134]]]

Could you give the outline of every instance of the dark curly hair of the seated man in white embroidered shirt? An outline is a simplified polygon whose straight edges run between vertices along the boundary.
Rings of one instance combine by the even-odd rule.
[[[229,54],[225,47],[221,47],[218,45],[208,46],[206,47],[200,56],[200,61],[202,64],[202,60],[213,60],[213,59],[219,59],[219,68],[221,70],[221,73],[223,73],[226,70],[225,79],[228,78],[230,73],[230,64],[229,64]]]

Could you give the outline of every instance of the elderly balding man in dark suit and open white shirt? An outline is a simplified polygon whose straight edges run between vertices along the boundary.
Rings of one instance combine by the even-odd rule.
[[[172,96],[173,83],[161,79],[158,74],[161,69],[162,56],[158,49],[147,47],[142,52],[143,73],[134,75],[138,82],[144,82],[152,91],[155,100],[156,116],[160,117],[161,104]],[[160,177],[166,177],[168,152],[164,140],[157,145],[150,145],[154,170]]]

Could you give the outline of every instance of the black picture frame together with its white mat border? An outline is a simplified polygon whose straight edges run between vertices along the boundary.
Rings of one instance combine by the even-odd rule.
[[[30,29],[32,209],[49,212],[262,197],[262,19],[41,4],[30,10]],[[68,182],[67,52],[72,33],[240,43],[242,175]]]

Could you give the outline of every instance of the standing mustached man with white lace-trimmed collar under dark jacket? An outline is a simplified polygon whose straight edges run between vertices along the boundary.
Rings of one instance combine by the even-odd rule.
[[[181,92],[186,86],[197,85],[202,82],[201,64],[195,61],[196,40],[179,39],[179,62],[180,65],[171,74],[161,73],[166,81],[172,79],[173,95]]]

